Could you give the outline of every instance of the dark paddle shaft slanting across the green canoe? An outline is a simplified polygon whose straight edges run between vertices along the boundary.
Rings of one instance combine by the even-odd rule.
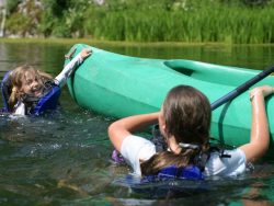
[[[236,96],[240,95],[241,93],[246,92],[251,85],[254,85],[256,82],[261,81],[269,75],[271,75],[274,71],[274,66],[270,67],[262,72],[258,73],[255,77],[252,79],[246,81],[231,92],[227,93],[226,95],[221,96],[220,99],[216,100],[214,103],[212,103],[212,110],[214,111],[215,108],[219,107],[220,105],[227,103],[228,101],[233,100]]]

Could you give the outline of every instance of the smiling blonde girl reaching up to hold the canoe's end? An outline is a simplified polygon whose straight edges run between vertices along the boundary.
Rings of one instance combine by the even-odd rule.
[[[90,49],[83,48],[56,78],[36,70],[28,65],[20,66],[12,70],[7,79],[7,84],[9,84],[10,89],[10,95],[7,98],[7,111],[18,115],[27,115],[37,112],[37,103],[44,104],[45,101],[48,102],[48,100],[50,100],[50,104],[57,104],[57,99],[60,93],[59,89],[66,83],[72,71],[90,54]],[[45,101],[41,103],[39,101],[45,95],[47,95]],[[39,108],[41,106],[48,107],[48,105],[39,105]],[[49,105],[49,107],[54,108],[56,105]]]

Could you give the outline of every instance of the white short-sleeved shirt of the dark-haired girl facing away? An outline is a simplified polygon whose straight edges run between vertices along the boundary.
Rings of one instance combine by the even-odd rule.
[[[130,135],[122,142],[121,153],[125,161],[133,168],[134,173],[140,175],[139,160],[148,160],[156,153],[155,145],[142,137]],[[240,149],[225,150],[230,158],[220,158],[218,152],[210,153],[210,158],[203,172],[205,176],[239,175],[246,171],[246,154]]]

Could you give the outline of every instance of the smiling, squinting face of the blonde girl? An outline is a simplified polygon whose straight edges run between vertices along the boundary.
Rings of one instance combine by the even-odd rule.
[[[43,88],[37,75],[25,72],[22,77],[21,92],[33,96],[41,96],[43,94]]]

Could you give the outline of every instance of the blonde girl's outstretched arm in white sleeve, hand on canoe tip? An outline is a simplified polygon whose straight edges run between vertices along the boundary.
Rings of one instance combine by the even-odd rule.
[[[90,55],[91,49],[83,48],[81,53],[78,54],[68,65],[66,65],[62,71],[54,79],[55,83],[59,87],[65,85],[75,69]]]

